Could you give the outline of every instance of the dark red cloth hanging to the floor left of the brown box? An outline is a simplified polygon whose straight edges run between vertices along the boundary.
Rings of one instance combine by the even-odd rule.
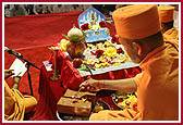
[[[52,72],[47,72],[42,66],[39,79],[39,101],[32,121],[56,121],[57,102],[63,96],[65,89],[61,86],[61,80],[52,82]]]

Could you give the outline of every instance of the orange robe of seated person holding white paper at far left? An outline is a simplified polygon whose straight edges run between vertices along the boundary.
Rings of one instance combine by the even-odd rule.
[[[32,111],[37,101],[32,96],[24,97],[17,89],[10,89],[4,82],[4,120],[23,121],[25,110]]]

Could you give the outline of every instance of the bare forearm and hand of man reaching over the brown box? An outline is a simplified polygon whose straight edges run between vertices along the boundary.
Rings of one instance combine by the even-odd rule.
[[[88,79],[80,85],[80,87],[96,87],[96,89],[120,90],[133,92],[137,90],[137,86],[133,78],[117,79],[117,80],[96,80]]]

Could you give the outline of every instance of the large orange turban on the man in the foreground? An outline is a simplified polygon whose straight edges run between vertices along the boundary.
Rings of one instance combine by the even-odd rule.
[[[126,39],[141,39],[160,32],[158,8],[134,4],[117,9],[112,17],[117,34]]]

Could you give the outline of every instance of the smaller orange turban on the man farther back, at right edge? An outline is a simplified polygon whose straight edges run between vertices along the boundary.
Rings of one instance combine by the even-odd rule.
[[[173,21],[174,7],[158,7],[159,18],[161,23]]]

